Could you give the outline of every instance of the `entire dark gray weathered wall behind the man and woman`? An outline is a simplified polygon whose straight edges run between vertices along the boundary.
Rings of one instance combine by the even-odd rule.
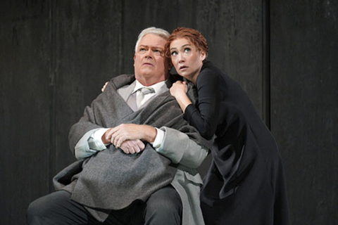
[[[73,162],[68,131],[102,84],[133,72],[149,26],[201,31],[271,128],[292,224],[338,221],[334,1],[189,0],[0,3],[0,224],[25,224],[35,198]],[[201,173],[206,172],[206,163]]]

